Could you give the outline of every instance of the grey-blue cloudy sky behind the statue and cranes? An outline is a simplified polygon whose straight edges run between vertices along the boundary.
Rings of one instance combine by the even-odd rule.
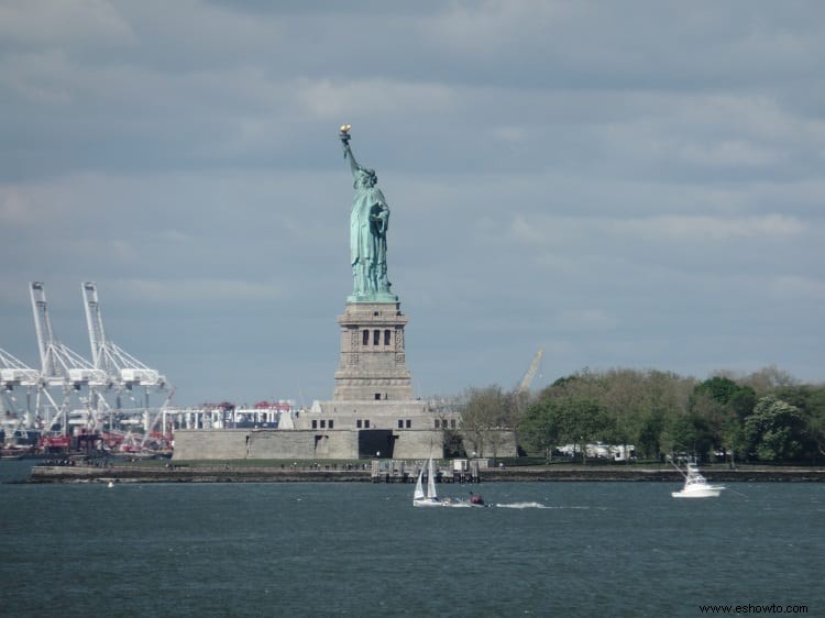
[[[29,282],[175,402],[327,399],[352,180],[422,397],[583,367],[825,379],[818,0],[0,0],[0,347]]]

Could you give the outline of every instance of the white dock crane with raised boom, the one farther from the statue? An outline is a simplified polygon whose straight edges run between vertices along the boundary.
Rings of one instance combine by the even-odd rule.
[[[86,358],[73,352],[54,336],[52,321],[48,318],[46,293],[42,282],[30,285],[34,328],[37,331],[37,349],[41,360],[41,379],[43,386],[62,387],[63,402],[55,419],[46,415],[46,429],[63,417],[63,433],[68,432],[68,405],[73,394],[79,394],[84,387],[91,394],[95,389],[107,386],[106,372],[95,368]],[[88,400],[86,406],[89,407]],[[89,410],[92,412],[92,410]]]

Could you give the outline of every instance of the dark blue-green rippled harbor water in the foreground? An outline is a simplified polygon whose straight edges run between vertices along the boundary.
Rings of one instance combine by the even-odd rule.
[[[825,616],[825,484],[446,485],[495,506],[426,509],[393,484],[8,483],[28,465],[0,464],[6,616]]]

